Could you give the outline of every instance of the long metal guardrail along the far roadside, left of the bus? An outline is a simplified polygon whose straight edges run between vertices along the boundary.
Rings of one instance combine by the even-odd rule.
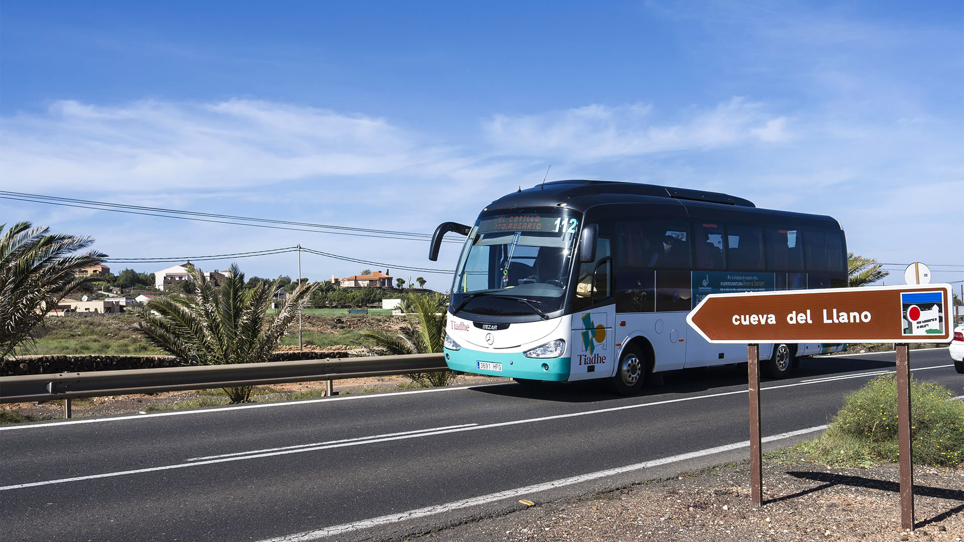
[[[444,354],[182,366],[0,377],[0,403],[233,388],[448,370]]]

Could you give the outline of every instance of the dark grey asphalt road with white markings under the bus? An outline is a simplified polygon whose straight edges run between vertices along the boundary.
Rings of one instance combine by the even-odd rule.
[[[964,394],[947,348],[910,359]],[[894,362],[821,357],[764,380],[763,435],[809,429],[766,447],[813,438]],[[745,458],[748,438],[745,366],[676,371],[629,398],[504,384],[5,425],[0,537],[398,539]]]

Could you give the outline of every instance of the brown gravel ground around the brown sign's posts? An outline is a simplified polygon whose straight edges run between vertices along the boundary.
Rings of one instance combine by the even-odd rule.
[[[964,467],[915,472],[916,530],[900,530],[897,465],[763,466],[763,506],[749,464],[635,485],[412,537],[419,542],[939,540],[964,538]]]

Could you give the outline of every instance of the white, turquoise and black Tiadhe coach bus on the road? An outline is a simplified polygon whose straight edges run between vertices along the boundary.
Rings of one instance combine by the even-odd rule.
[[[758,208],[727,194],[557,180],[489,203],[466,236],[446,314],[453,370],[522,384],[606,379],[637,393],[654,373],[746,362],[686,314],[710,293],[844,287],[844,231],[829,216]],[[764,374],[841,344],[761,344]]]

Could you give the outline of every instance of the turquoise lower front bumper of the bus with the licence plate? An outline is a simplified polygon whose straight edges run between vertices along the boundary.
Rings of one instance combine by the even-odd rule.
[[[569,380],[571,358],[526,358],[522,352],[480,352],[462,347],[460,350],[444,349],[448,368],[474,374],[526,378],[529,380]]]

